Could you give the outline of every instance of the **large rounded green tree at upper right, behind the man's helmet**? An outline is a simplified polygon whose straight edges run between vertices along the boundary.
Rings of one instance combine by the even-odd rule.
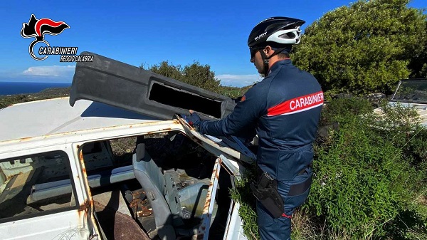
[[[423,74],[417,61],[426,59],[426,15],[408,2],[357,1],[328,12],[305,28],[295,65],[332,94],[390,93],[399,79]]]

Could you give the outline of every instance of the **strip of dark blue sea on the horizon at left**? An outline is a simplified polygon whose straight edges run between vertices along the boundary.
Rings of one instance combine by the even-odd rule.
[[[71,83],[0,82],[0,95],[38,93],[46,88],[68,88]]]

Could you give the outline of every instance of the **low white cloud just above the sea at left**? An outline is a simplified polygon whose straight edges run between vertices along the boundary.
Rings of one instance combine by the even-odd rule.
[[[30,67],[21,74],[27,76],[44,76],[44,77],[72,77],[75,66],[36,66]]]

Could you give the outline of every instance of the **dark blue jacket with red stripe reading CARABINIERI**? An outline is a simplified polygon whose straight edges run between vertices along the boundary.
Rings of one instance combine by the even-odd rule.
[[[237,137],[253,137],[256,130],[258,166],[275,179],[290,181],[312,162],[322,105],[316,78],[290,60],[278,61],[266,78],[243,95],[232,113],[222,120],[202,121],[199,130]]]

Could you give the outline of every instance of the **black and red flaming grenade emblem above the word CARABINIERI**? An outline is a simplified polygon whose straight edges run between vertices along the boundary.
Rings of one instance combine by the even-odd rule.
[[[30,52],[31,58],[34,58],[38,61],[42,61],[48,58],[48,56],[38,58],[34,54],[34,46],[38,42],[43,42],[47,46],[50,46],[48,41],[44,40],[44,35],[58,35],[59,33],[62,33],[65,28],[70,28],[70,26],[68,26],[68,24],[65,24],[65,22],[63,21],[52,21],[51,19],[36,19],[36,16],[34,16],[34,14],[31,14],[30,21],[28,21],[28,24],[23,23],[21,29],[21,36],[23,38],[36,38],[36,40],[31,42],[30,46],[28,47],[28,51]]]

